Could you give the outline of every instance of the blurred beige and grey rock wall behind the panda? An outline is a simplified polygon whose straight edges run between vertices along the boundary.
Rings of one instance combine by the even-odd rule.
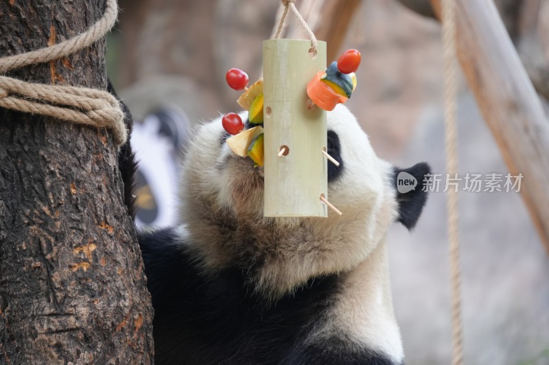
[[[443,173],[441,27],[401,2],[362,0],[350,20],[340,51],[360,50],[362,64],[347,105],[382,158],[400,166],[427,161]],[[547,107],[549,0],[495,3]],[[235,103],[240,93],[226,86],[224,74],[237,67],[250,81],[259,77],[261,42],[270,36],[279,1],[120,0],[119,5],[108,70],[137,120],[168,108],[193,125],[240,110]],[[299,34],[295,23],[289,28]],[[460,170],[506,174],[463,79],[458,114]],[[549,364],[549,256],[519,194],[460,194],[460,234],[465,364]],[[412,234],[395,225],[388,241],[407,363],[448,364],[444,194],[430,195]]]

